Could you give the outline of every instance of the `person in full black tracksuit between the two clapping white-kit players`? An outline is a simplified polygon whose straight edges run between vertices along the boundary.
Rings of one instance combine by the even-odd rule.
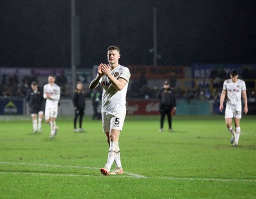
[[[73,105],[75,108],[75,117],[74,117],[74,131],[75,132],[83,132],[82,128],[84,110],[86,107],[85,104],[85,92],[83,91],[83,83],[77,82],[76,90],[72,96]],[[79,128],[76,128],[77,118],[79,117]]]

